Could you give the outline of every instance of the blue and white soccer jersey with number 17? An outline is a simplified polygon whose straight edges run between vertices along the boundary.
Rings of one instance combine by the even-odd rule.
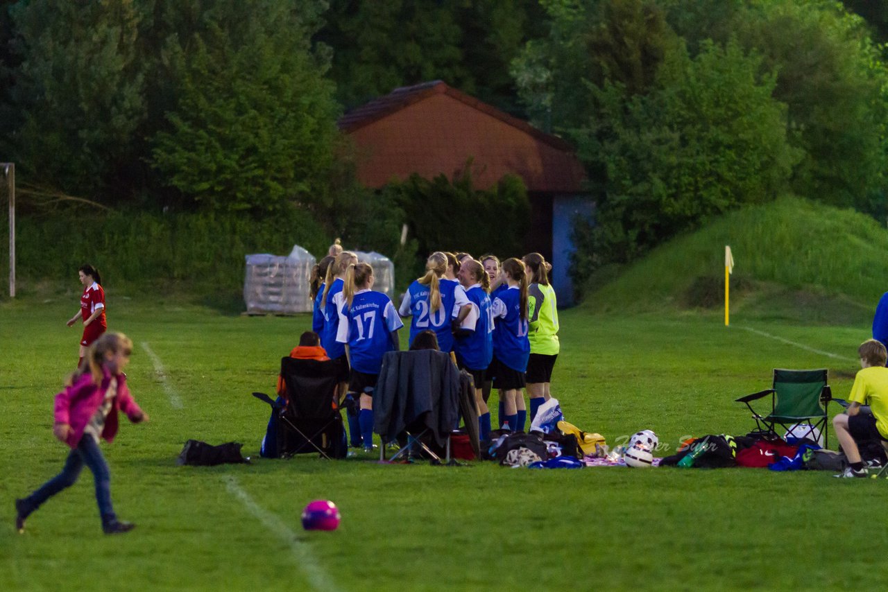
[[[388,296],[363,289],[354,294],[351,306],[340,309],[337,342],[348,343],[354,370],[378,375],[385,352],[395,349],[397,336],[392,333],[403,326]]]

